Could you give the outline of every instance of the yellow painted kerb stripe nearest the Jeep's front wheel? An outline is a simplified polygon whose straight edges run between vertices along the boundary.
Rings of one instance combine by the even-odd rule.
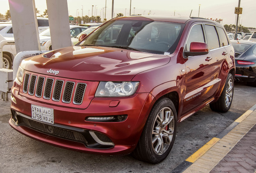
[[[186,161],[194,163],[200,156],[202,156],[206,151],[208,151],[215,143],[217,143],[220,139],[214,137],[200,149],[198,149],[194,154],[192,154]]]

